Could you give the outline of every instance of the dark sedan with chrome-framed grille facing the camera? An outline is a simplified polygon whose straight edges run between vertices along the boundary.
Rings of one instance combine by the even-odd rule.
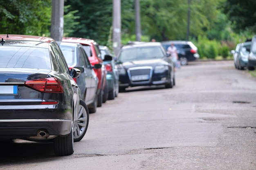
[[[175,85],[174,65],[159,42],[123,46],[117,56],[119,89],[143,85]]]

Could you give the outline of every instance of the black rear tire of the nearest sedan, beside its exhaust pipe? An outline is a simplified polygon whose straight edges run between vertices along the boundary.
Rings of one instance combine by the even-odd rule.
[[[67,156],[74,153],[73,130],[66,136],[54,138],[54,153],[56,156]]]

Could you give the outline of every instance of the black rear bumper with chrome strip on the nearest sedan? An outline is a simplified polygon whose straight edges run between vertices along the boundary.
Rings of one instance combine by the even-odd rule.
[[[34,107],[41,109],[33,109]],[[67,135],[72,127],[72,109],[56,105],[0,105],[0,138],[33,137],[45,129],[49,135]],[[19,108],[19,109],[18,109]]]

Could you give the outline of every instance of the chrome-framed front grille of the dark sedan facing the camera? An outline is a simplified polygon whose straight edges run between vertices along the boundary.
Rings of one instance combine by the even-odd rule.
[[[152,67],[135,67],[129,68],[128,76],[132,84],[148,83],[151,80],[153,68]]]

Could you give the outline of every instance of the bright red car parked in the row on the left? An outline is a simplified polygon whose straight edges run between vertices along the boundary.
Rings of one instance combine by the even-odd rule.
[[[92,39],[75,38],[75,37],[63,37],[63,42],[75,42],[83,45],[83,49],[88,55],[90,63],[94,66],[95,64],[101,64],[101,69],[94,69],[95,74],[99,78],[99,84],[97,89],[97,107],[101,107],[102,103],[108,100],[108,82],[106,81],[107,70],[104,67],[103,60],[101,59],[101,53],[99,45]]]

